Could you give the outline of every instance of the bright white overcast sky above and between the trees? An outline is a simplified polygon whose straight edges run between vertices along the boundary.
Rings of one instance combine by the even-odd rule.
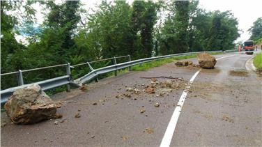
[[[61,0],[56,1],[59,3]],[[109,0],[112,1],[112,0]],[[133,0],[127,0],[128,3],[132,3]],[[155,0],[154,0],[155,1]],[[91,10],[95,8],[96,3],[100,3],[101,0],[82,0],[84,8]],[[199,0],[199,7],[209,11],[220,10],[226,11],[231,10],[234,17],[238,19],[238,29],[240,31],[240,38],[235,42],[248,40],[250,37],[248,29],[252,26],[253,22],[259,17],[262,17],[262,0]],[[41,8],[38,4],[34,6],[36,8],[36,18],[38,23],[43,22],[43,15],[41,14]],[[22,36],[17,36],[17,40],[23,40]]]

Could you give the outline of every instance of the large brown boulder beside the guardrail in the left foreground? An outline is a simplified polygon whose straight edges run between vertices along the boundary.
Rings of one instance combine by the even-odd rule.
[[[56,106],[37,84],[17,89],[8,99],[6,114],[16,124],[38,123],[56,117]]]

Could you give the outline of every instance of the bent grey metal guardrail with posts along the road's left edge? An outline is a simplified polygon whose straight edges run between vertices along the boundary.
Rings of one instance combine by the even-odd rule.
[[[222,52],[222,51],[210,51],[210,52]],[[227,50],[225,52],[232,52],[232,50]],[[235,49],[234,51],[235,52]],[[70,90],[70,84],[74,85],[74,86],[82,86],[83,84],[90,82],[91,80],[95,79],[96,82],[98,82],[98,75],[102,75],[105,74],[107,72],[113,72],[114,71],[114,75],[117,75],[117,70],[123,69],[123,68],[129,68],[129,70],[131,70],[131,67],[137,64],[141,64],[141,63],[146,63],[146,62],[150,62],[150,61],[155,61],[155,60],[160,60],[160,59],[167,59],[170,57],[174,57],[174,56],[186,56],[186,55],[191,55],[191,54],[198,54],[198,53],[203,53],[203,52],[187,52],[187,53],[182,53],[182,54],[169,54],[169,55],[165,55],[165,56],[154,56],[151,58],[146,58],[146,59],[138,59],[138,60],[134,60],[131,61],[131,57],[130,55],[128,56],[117,56],[117,57],[113,57],[113,58],[109,58],[109,59],[102,59],[102,60],[98,60],[98,61],[105,61],[105,60],[113,60],[114,65],[109,65],[106,66],[104,68],[98,68],[98,69],[93,69],[93,67],[91,66],[90,63],[95,63],[98,61],[91,61],[91,62],[86,62],[86,63],[80,63],[80,64],[76,64],[76,65],[70,65],[70,63],[67,64],[61,64],[61,65],[53,65],[53,66],[48,66],[48,67],[44,67],[44,68],[34,68],[31,70],[19,70],[18,72],[8,72],[8,73],[3,73],[2,75],[11,75],[11,74],[18,74],[18,83],[20,84],[20,86],[16,86],[13,88],[7,88],[3,91],[0,91],[1,94],[1,104],[6,102],[8,100],[8,98],[10,97],[10,95],[13,94],[13,92],[18,89],[18,88],[24,88],[26,86],[29,86],[29,84],[24,84],[23,81],[23,77],[22,77],[22,72],[29,72],[29,71],[33,71],[33,70],[41,70],[41,69],[46,69],[46,68],[54,68],[54,67],[59,67],[59,66],[66,66],[66,73],[67,75],[61,76],[61,77],[55,77],[53,79],[47,79],[44,81],[40,81],[40,82],[36,82],[36,84],[39,84],[41,86],[41,88],[43,89],[43,91],[49,90],[51,88],[55,88],[58,86],[63,86],[63,85],[67,85],[67,90]],[[119,58],[125,58],[128,57],[129,61],[125,62],[125,63],[116,63],[116,59]],[[88,74],[84,75],[83,77],[80,77],[78,79],[73,80],[72,76],[71,76],[71,70],[70,68],[75,68],[76,66],[79,65],[88,65],[88,68],[90,68],[91,72],[89,72]]]

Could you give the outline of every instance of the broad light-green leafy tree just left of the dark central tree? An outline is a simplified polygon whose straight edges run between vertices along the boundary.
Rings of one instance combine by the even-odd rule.
[[[92,47],[100,49],[101,57],[128,54],[130,32],[130,6],[125,1],[115,5],[102,1],[98,11],[89,16],[87,39],[93,40]]]

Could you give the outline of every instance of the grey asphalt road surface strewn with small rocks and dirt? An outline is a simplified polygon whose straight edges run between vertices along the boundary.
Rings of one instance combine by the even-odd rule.
[[[236,54],[217,61],[213,70],[201,70],[188,91],[171,146],[262,146],[262,79],[245,70],[250,58]],[[168,63],[102,79],[89,84],[88,91],[59,93],[53,98],[63,102],[58,109],[67,118],[63,123],[52,119],[14,125],[2,112],[1,122],[7,125],[1,127],[1,146],[160,146],[180,95],[198,70]],[[158,76],[182,79],[174,79],[176,88],[144,92],[151,79],[140,77]],[[140,92],[132,94],[128,87]],[[75,118],[77,113],[80,118]]]

